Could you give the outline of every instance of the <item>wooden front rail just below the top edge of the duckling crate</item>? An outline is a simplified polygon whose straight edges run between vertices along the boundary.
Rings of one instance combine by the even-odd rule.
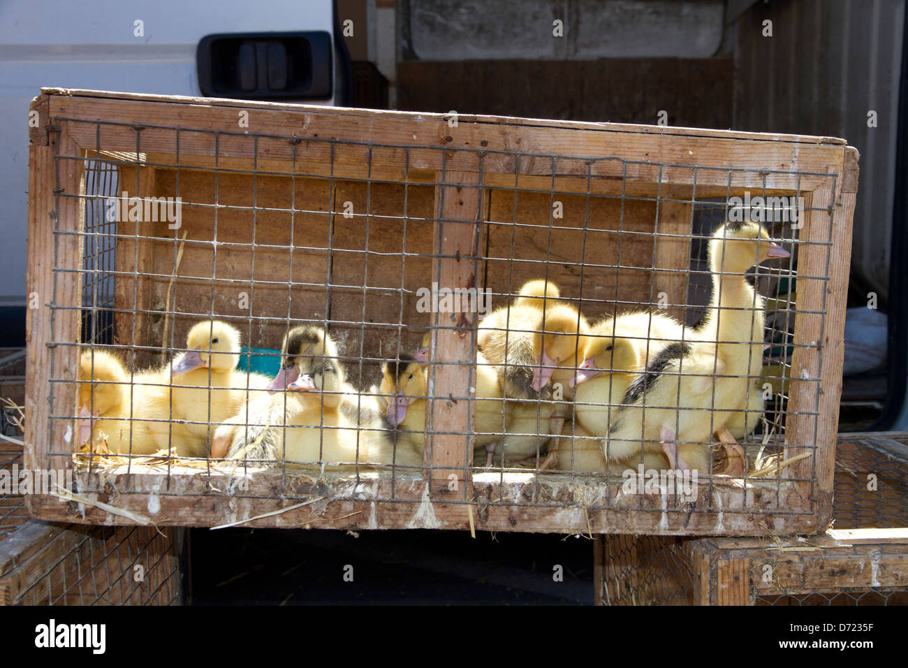
[[[124,124],[147,125],[143,129],[142,145],[144,151],[151,153],[175,154],[177,127],[199,129],[181,130],[181,155],[214,155],[217,151],[218,155],[230,158],[252,157],[256,152],[254,135],[243,135],[238,130],[234,109],[62,96],[54,96],[51,107],[52,115],[72,119],[65,122],[69,132],[86,146],[97,143],[98,118],[117,118]],[[701,167],[696,173],[698,185],[725,185],[728,174],[723,169],[734,166],[749,170],[735,173],[742,186],[795,190],[800,183],[802,189],[809,190],[816,177],[803,173],[824,174],[828,165],[842,165],[844,152],[842,146],[823,144],[797,145],[799,150],[793,152],[792,145],[756,139],[745,143],[720,137],[682,138],[469,122],[450,127],[438,115],[407,119],[378,115],[364,124],[343,115],[326,115],[324,110],[321,115],[310,115],[253,109],[250,127],[262,134],[284,137],[259,137],[260,159],[289,162],[296,142],[302,141],[301,150],[304,148],[307,155],[305,173],[338,178],[363,178],[368,174],[380,178],[381,170],[389,168],[399,179],[400,169],[408,164],[414,169],[479,171],[480,162],[483,172],[489,174],[550,174],[550,156],[568,155],[577,159],[577,174],[591,171],[597,177],[651,181],[652,165],[661,163],[666,165],[662,170],[664,184],[692,184],[690,167],[668,165],[698,165]],[[214,135],[215,132],[220,134]],[[106,150],[135,150],[134,130],[130,125],[103,125],[101,134]],[[326,140],[326,136],[332,139]],[[379,152],[372,147],[375,156],[371,165],[364,160],[367,144],[385,145]],[[529,147],[525,149],[527,155],[515,155],[515,148],[519,150],[521,146]],[[582,165],[587,159],[596,162]],[[787,173],[788,170],[803,175]]]

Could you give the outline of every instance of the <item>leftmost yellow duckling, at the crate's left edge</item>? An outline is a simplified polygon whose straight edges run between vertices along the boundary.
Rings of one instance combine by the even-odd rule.
[[[115,454],[153,454],[157,450],[149,433],[153,424],[140,420],[145,413],[142,396],[133,390],[141,388],[130,384],[119,357],[104,350],[84,351],[79,358],[79,381],[76,424],[80,445],[104,434]]]

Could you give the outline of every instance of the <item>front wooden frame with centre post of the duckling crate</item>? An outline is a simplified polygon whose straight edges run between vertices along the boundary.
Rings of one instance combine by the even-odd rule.
[[[63,408],[74,406],[74,384],[51,383],[51,378],[75,377],[77,348],[54,342],[79,342],[79,311],[72,308],[80,304],[79,286],[65,280],[67,272],[78,272],[81,266],[77,233],[84,223],[82,207],[73,195],[83,192],[81,158],[98,152],[131,155],[131,160],[148,165],[151,169],[145,173],[143,168],[137,177],[140,189],[160,182],[154,167],[173,165],[173,156],[178,156],[176,164],[181,168],[254,168],[292,178],[297,174],[330,178],[332,183],[364,181],[367,187],[373,180],[410,187],[428,184],[436,194],[435,217],[444,221],[435,222],[432,272],[454,287],[479,286],[477,268],[465,254],[476,256],[481,236],[478,222],[483,220],[489,191],[515,185],[577,194],[591,190],[622,198],[656,196],[656,205],[665,207],[659,224],[666,230],[684,229],[690,216],[684,199],[692,193],[725,196],[745,188],[766,194],[799,193],[812,207],[805,234],[822,242],[805,246],[800,260],[808,270],[804,274],[819,277],[804,281],[797,295],[795,341],[811,347],[795,351],[792,394],[798,410],[818,413],[815,427],[808,428],[804,420],[786,434],[790,454],[815,447],[816,456],[794,470],[801,482],[779,488],[748,484],[746,489],[716,483],[704,488],[705,494],[689,512],[666,513],[661,496],[641,498],[635,509],[628,510],[615,507],[596,484],[571,474],[475,474],[452,485],[450,469],[469,464],[469,447],[463,437],[435,435],[427,448],[431,453],[427,454],[428,480],[419,474],[397,474],[393,482],[379,474],[360,474],[360,484],[365,479],[369,490],[365,495],[351,494],[359,487],[342,476],[281,481],[285,486],[280,491],[277,483],[260,476],[244,481],[243,493],[236,494],[231,476],[214,470],[199,475],[174,466],[161,474],[133,467],[129,473],[107,471],[103,482],[97,472],[79,474],[77,486],[89,503],[73,503],[54,494],[30,495],[33,515],[67,522],[131,522],[126,515],[112,515],[93,505],[101,502],[173,525],[242,522],[288,527],[741,535],[817,533],[828,523],[844,305],[826,295],[844,294],[847,284],[857,183],[857,152],[842,140],[60,89],[44,89],[32,108],[40,123],[31,130],[28,291],[37,294],[41,304],[29,311],[27,334],[28,364],[34,374],[26,387],[25,443],[26,464],[33,470],[72,467],[65,453],[51,453],[60,453],[60,444],[68,443],[73,432],[67,436],[67,429],[74,428],[73,422],[52,419],[51,410],[57,416],[75,414]],[[254,143],[244,139],[237,132],[238,116],[261,139]],[[115,123],[104,125],[102,132],[98,119]],[[300,155],[305,156],[304,169],[298,162]],[[575,157],[549,157],[558,155]],[[609,155],[620,159],[602,159]],[[733,173],[734,184],[730,184]],[[681,201],[665,201],[673,197]],[[450,234],[441,234],[441,224]],[[133,249],[132,268],[143,273],[152,267],[149,244],[138,238],[134,243],[139,247]],[[659,270],[671,266],[681,245],[660,244],[654,267],[647,269],[654,273],[654,285],[674,293],[677,282]],[[138,303],[151,304],[147,294],[140,294]],[[823,316],[817,315],[821,312]],[[462,359],[471,349],[475,317],[463,313],[455,322],[455,328],[437,330],[434,359]],[[436,374],[433,382],[437,393],[464,395],[467,380],[466,374],[445,372]],[[432,404],[429,414],[435,431],[458,431],[458,425],[462,430],[468,417],[465,406]],[[797,423],[800,418],[793,414]],[[313,494],[322,494],[331,503],[299,506],[299,499]],[[528,503],[530,497],[534,504]],[[200,499],[203,503],[196,503]],[[723,510],[717,512],[716,507]],[[261,516],[276,511],[281,513]]]

